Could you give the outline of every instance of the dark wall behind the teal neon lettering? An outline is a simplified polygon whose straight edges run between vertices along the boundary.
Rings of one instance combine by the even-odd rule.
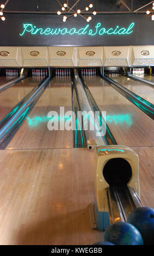
[[[144,14],[114,14],[114,15],[93,15],[90,22],[82,17],[71,17],[63,22],[59,15],[39,15],[39,14],[5,14],[5,21],[1,21],[0,45],[1,46],[116,46],[116,45],[154,45],[154,21]],[[128,28],[134,22],[131,34],[103,34],[94,36],[87,34],[65,34],[65,35],[45,35],[31,34],[23,32],[23,23],[30,23],[36,28],[84,28],[89,25],[89,29],[95,32],[96,24],[101,23],[102,28]],[[35,30],[34,30],[35,32]]]

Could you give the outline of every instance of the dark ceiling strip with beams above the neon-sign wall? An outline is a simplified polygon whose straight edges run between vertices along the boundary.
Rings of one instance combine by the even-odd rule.
[[[61,10],[61,5],[64,3],[69,4],[69,7],[72,7],[76,2],[78,2],[74,10],[81,9],[83,10],[85,7],[87,7],[90,3],[94,5],[92,10],[96,10],[97,12],[133,12],[134,10],[137,10],[143,5],[146,5],[147,3],[150,3],[152,1],[149,0],[0,0],[0,3],[5,4],[5,2],[8,2],[4,8],[5,12],[53,12],[57,13],[58,10]],[[61,5],[60,5],[61,4]],[[147,9],[152,8],[152,4],[147,5],[145,8],[142,8],[139,10],[139,12],[143,12]],[[68,11],[68,10],[66,10]]]

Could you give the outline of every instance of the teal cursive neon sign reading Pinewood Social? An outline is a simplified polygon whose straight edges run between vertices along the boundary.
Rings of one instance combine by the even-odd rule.
[[[23,23],[23,31],[20,33],[23,36],[25,33],[30,33],[32,35],[129,35],[133,33],[133,27],[135,23],[132,22],[127,28],[116,26],[114,28],[104,28],[101,23],[98,22],[95,26],[95,29],[89,28],[89,25],[83,28],[37,28],[31,23]]]

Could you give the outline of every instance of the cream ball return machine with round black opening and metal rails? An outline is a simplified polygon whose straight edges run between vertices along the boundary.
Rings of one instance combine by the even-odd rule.
[[[139,159],[124,145],[95,148],[95,202],[90,204],[93,229],[106,230],[114,222],[143,207],[139,197]]]

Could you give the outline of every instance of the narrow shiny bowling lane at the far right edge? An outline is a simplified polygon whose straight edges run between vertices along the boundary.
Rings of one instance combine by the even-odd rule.
[[[120,83],[122,86],[131,90],[131,92],[139,95],[144,100],[154,104],[154,88],[147,86],[145,83],[140,81],[134,81],[131,78],[125,76],[111,77],[115,82]]]

